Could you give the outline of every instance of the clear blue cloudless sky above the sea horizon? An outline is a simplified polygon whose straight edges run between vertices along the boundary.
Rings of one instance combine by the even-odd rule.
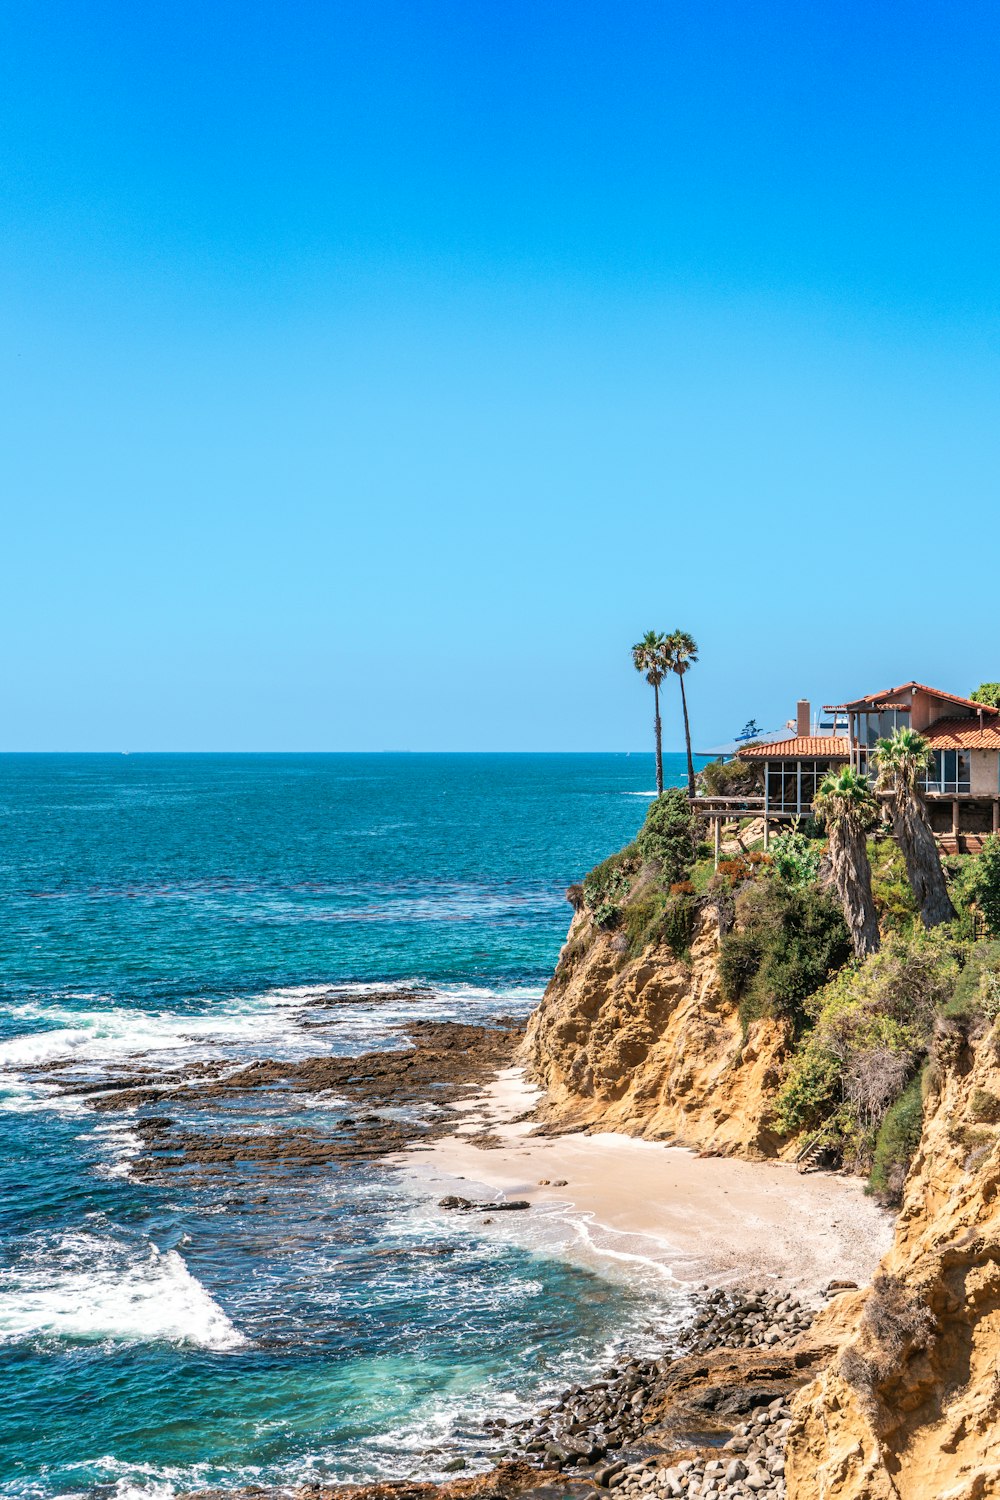
[[[651,627],[702,744],[999,678],[999,32],[6,0],[0,746],[634,748]]]

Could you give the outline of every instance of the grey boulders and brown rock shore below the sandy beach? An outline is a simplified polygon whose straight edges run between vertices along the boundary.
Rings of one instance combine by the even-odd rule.
[[[847,1284],[831,1284],[834,1298]],[[484,1422],[483,1456],[454,1478],[282,1490],[285,1500],[780,1500],[792,1398],[829,1350],[814,1310],[781,1290],[694,1293],[696,1316],[658,1358],[622,1358],[534,1418]],[[490,1454],[492,1449],[492,1454]],[[277,1500],[247,1490],[244,1500]],[[181,1497],[195,1500],[195,1497]],[[201,1491],[196,1500],[232,1500]]]

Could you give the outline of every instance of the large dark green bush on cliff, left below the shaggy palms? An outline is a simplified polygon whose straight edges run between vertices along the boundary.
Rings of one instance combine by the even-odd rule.
[[[720,948],[723,994],[741,1002],[745,1024],[771,1014],[798,1026],[804,1002],[850,950],[840,903],[825,891],[777,880],[744,886],[736,897],[736,927]]]

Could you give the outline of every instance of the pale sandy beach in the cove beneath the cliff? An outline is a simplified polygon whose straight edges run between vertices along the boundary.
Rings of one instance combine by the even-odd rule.
[[[504,1070],[457,1108],[454,1134],[394,1160],[417,1191],[438,1198],[526,1198],[529,1212],[472,1215],[477,1232],[606,1275],[774,1282],[811,1299],[835,1278],[865,1284],[889,1246],[892,1216],[856,1178],[618,1134],[532,1136],[519,1116],[537,1100],[523,1070]]]

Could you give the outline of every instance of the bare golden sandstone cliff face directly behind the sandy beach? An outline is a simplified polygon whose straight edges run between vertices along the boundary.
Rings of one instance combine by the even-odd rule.
[[[720,994],[717,958],[711,915],[685,963],[666,946],[628,958],[579,912],[522,1047],[547,1095],[543,1120],[775,1155],[771,1101],[787,1032],[760,1020],[744,1040],[736,1006]]]

